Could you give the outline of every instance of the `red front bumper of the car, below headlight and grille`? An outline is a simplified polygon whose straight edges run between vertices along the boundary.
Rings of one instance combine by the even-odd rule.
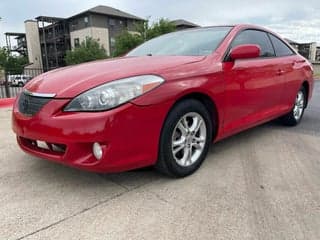
[[[132,103],[104,112],[62,112],[68,100],[53,99],[36,115],[12,113],[12,128],[27,153],[95,172],[119,172],[153,165],[158,156],[162,124],[170,102],[137,106]],[[44,141],[48,149],[37,146]],[[103,147],[97,160],[92,145]],[[56,151],[58,147],[59,151]]]

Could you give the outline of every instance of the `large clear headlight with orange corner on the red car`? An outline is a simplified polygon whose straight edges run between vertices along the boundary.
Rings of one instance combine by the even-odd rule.
[[[149,92],[163,82],[155,75],[123,78],[90,89],[75,97],[64,111],[103,111]]]

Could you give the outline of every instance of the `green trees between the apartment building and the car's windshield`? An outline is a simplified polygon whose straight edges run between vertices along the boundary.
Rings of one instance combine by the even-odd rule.
[[[121,56],[147,40],[175,30],[175,25],[168,19],[163,18],[154,22],[151,26],[149,26],[148,21],[136,24],[135,31],[137,33],[124,31],[116,37],[115,50],[112,55],[114,57]]]

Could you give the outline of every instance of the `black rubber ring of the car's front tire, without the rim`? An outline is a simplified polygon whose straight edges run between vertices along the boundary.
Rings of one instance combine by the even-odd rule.
[[[196,112],[204,119],[207,129],[206,143],[199,159],[190,166],[182,167],[174,159],[171,151],[172,134],[178,121],[187,113]],[[162,129],[160,141],[160,158],[164,161],[169,173],[176,177],[184,177],[196,171],[205,159],[212,140],[212,120],[206,107],[198,100],[188,99],[176,104],[168,114]]]

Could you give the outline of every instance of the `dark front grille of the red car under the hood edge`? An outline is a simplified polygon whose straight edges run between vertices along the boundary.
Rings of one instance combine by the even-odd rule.
[[[33,116],[52,98],[35,97],[24,92],[19,97],[19,111],[27,116]]]

